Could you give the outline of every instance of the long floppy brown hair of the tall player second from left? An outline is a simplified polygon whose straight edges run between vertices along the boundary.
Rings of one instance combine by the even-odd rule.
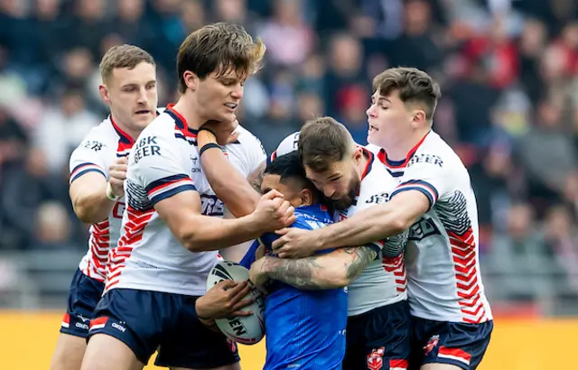
[[[187,89],[182,76],[187,70],[206,79],[214,71],[220,75],[233,69],[246,79],[261,68],[265,51],[261,39],[254,42],[243,26],[222,22],[208,24],[192,32],[179,48],[179,91],[184,93]]]

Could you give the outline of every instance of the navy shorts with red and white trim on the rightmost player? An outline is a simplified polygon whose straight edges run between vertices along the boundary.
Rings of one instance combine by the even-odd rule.
[[[474,370],[489,345],[493,321],[481,324],[413,318],[412,369],[424,364],[450,364]]]

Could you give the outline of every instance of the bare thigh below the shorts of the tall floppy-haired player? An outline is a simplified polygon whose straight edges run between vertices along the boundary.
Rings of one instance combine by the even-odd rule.
[[[121,340],[107,334],[91,336],[81,370],[142,370],[144,364]]]

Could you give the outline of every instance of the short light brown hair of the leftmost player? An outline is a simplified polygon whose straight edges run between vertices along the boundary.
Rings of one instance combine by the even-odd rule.
[[[134,69],[138,64],[149,63],[156,66],[153,57],[148,52],[135,45],[117,45],[108,49],[100,60],[100,76],[105,84],[117,68]]]

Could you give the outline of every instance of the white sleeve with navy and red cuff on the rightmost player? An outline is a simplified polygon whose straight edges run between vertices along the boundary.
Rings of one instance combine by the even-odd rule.
[[[417,190],[429,199],[431,209],[438,199],[456,187],[451,168],[451,164],[444,162],[439,155],[415,154],[391,197],[402,191]]]

